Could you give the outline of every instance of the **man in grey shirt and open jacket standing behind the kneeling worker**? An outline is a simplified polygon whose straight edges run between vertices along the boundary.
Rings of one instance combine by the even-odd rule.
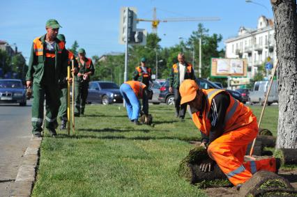
[[[187,110],[187,104],[181,104],[181,94],[179,86],[185,79],[196,79],[193,67],[185,61],[185,54],[179,53],[177,56],[178,63],[172,66],[169,76],[169,92],[174,93],[174,104],[176,109],[176,118],[183,120]]]

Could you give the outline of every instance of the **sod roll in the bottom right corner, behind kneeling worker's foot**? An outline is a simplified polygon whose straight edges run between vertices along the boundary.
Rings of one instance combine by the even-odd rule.
[[[245,182],[241,196],[297,196],[297,191],[288,180],[275,173],[259,171]]]

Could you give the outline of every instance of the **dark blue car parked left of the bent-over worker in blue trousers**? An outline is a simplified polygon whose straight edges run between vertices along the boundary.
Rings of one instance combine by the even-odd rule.
[[[87,103],[97,102],[102,104],[112,104],[123,102],[119,86],[109,81],[91,81],[89,83],[89,94]]]

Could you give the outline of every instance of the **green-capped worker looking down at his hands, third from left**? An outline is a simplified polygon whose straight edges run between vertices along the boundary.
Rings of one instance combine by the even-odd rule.
[[[84,49],[78,50],[78,73],[75,75],[75,116],[84,114],[86,97],[88,97],[88,88],[90,76],[94,74],[95,68],[91,58],[86,57]]]

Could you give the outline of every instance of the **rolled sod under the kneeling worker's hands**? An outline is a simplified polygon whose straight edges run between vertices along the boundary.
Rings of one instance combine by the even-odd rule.
[[[199,146],[193,148],[179,164],[178,175],[201,188],[231,186],[217,164],[213,166],[211,172],[205,173],[199,170],[199,164],[206,159],[209,157],[204,148]]]

